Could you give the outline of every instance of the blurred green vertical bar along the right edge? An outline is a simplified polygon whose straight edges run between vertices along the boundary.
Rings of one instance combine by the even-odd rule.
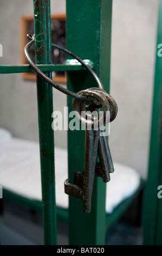
[[[162,0],[159,1],[157,46],[162,43],[161,25]],[[162,199],[157,197],[157,188],[162,184],[162,58],[158,57],[158,50],[159,48],[156,51],[150,158],[143,211],[144,245],[162,244]]]

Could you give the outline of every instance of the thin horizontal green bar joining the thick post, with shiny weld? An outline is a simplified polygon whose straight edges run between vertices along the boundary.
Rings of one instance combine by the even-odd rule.
[[[84,60],[85,63],[93,68],[93,63],[90,60]],[[66,64],[43,64],[36,65],[41,71],[77,71],[86,70],[82,64],[74,59],[66,60]],[[11,74],[11,73],[27,73],[35,72],[29,65],[0,65],[0,74]]]

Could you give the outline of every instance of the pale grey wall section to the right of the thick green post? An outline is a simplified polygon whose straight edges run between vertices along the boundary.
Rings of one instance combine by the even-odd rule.
[[[111,94],[119,112],[111,125],[115,161],[146,176],[157,40],[157,0],[113,2]]]

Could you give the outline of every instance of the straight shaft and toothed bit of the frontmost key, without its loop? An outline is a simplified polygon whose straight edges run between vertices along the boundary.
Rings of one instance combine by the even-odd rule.
[[[67,179],[64,182],[64,191],[70,196],[83,201],[83,211],[88,213],[91,209],[93,182],[95,177],[95,163],[98,154],[99,129],[85,130],[85,163],[83,172],[75,172],[73,184]]]

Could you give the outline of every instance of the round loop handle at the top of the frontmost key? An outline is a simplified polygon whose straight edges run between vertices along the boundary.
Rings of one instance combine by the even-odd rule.
[[[90,90],[90,89],[82,90],[77,94],[83,95],[83,96],[90,96],[93,99],[100,101],[103,108],[103,113],[99,119],[95,118],[93,120],[88,120],[84,118],[83,115],[81,114],[80,101],[77,99],[73,99],[72,108],[73,108],[73,111],[75,111],[74,114],[76,119],[79,120],[80,123],[82,123],[83,125],[92,125],[92,127],[94,126],[100,127],[101,125],[107,123],[107,120],[109,118],[109,113],[110,113],[110,106],[106,97],[103,94],[100,94],[99,92],[95,92],[94,90]]]

